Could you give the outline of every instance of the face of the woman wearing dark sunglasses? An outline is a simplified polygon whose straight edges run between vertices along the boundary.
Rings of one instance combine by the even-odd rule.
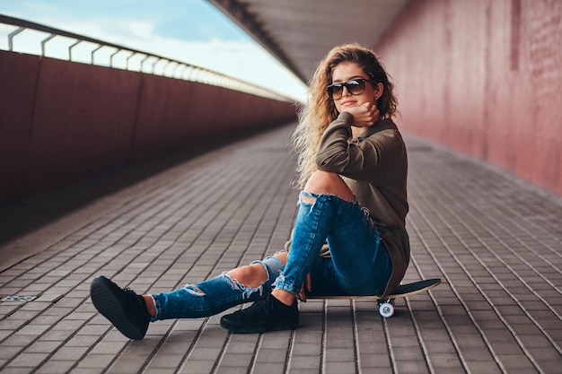
[[[376,98],[382,95],[382,83],[374,84],[369,82],[369,77],[364,74],[361,66],[352,62],[344,62],[336,65],[332,70],[333,83],[347,83],[353,80],[366,79],[364,82],[364,91],[359,94],[351,94],[346,86],[341,89],[341,98],[338,98],[339,92],[334,92],[333,98],[336,109],[341,113],[349,108],[359,107],[365,102],[376,103]],[[352,91],[354,91],[352,89]]]

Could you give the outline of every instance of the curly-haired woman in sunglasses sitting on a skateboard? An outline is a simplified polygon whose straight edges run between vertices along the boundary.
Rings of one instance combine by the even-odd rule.
[[[136,295],[101,276],[92,301],[132,339],[149,321],[207,317],[255,300],[221,318],[235,333],[298,326],[306,295],[384,295],[409,261],[406,148],[392,118],[397,100],[380,61],[367,48],[333,48],[310,84],[294,132],[299,153],[299,212],[285,251],[211,280],[156,295]]]

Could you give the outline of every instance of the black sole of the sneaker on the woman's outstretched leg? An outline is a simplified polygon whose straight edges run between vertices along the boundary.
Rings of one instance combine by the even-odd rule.
[[[90,286],[90,294],[93,306],[98,309],[103,317],[108,318],[121,334],[134,340],[141,340],[145,337],[145,331],[140,331],[128,320],[125,311],[121,308],[119,299],[106,284],[94,280]]]

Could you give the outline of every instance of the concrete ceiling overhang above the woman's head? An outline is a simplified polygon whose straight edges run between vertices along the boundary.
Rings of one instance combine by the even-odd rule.
[[[307,82],[330,48],[373,47],[410,0],[209,0]]]

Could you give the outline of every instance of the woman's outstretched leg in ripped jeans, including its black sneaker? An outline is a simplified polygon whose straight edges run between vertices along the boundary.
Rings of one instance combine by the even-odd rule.
[[[123,335],[138,340],[145,337],[151,320],[207,317],[258,300],[268,294],[283,267],[279,258],[268,257],[205,282],[144,296],[99,276],[92,281],[90,294],[93,305],[104,317]]]

